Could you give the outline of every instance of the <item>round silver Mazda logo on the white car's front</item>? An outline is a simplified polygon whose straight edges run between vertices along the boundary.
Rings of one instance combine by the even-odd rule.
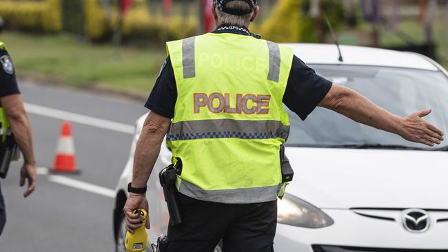
[[[406,209],[403,211],[403,226],[412,233],[423,233],[429,229],[431,218],[422,209]]]

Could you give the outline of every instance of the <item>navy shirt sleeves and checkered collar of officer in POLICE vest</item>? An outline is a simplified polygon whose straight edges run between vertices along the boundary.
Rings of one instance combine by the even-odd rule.
[[[234,33],[250,36],[247,28],[219,26],[214,33]],[[287,82],[283,103],[295,112],[302,120],[317,107],[320,101],[327,95],[332,82],[318,76],[312,68],[294,56],[291,72]],[[159,78],[145,103],[145,107],[161,116],[174,117],[174,105],[176,105],[177,90],[176,79],[170,56],[162,65]]]

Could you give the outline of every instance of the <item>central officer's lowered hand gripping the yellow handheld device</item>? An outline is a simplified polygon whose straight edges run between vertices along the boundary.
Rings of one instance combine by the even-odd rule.
[[[150,216],[148,211],[148,204],[145,194],[129,193],[128,200],[126,200],[123,211],[125,213],[126,229],[130,233],[134,233],[134,230],[141,226],[143,218],[139,214],[134,214],[134,210],[144,209],[147,213],[145,226],[150,229]]]

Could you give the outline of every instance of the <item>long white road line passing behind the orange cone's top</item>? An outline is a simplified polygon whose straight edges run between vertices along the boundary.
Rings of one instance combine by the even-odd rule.
[[[25,103],[25,108],[26,111],[30,114],[38,114],[40,116],[48,116],[61,120],[70,120],[73,123],[81,123],[83,125],[90,125],[93,127],[110,129],[116,132],[134,134],[134,126],[127,125],[124,123],[117,123],[112,120],[104,120],[92,116],[85,116],[83,114],[66,112],[63,110],[52,109],[51,107],[44,107],[41,105],[35,105],[31,103]]]

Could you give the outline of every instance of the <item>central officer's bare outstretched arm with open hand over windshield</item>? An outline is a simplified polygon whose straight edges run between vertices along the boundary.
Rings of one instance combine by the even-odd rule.
[[[402,118],[378,107],[358,92],[337,84],[332,86],[319,106],[332,109],[358,123],[398,134],[411,142],[434,146],[443,140],[443,132],[422,119],[431,113],[431,109]]]

